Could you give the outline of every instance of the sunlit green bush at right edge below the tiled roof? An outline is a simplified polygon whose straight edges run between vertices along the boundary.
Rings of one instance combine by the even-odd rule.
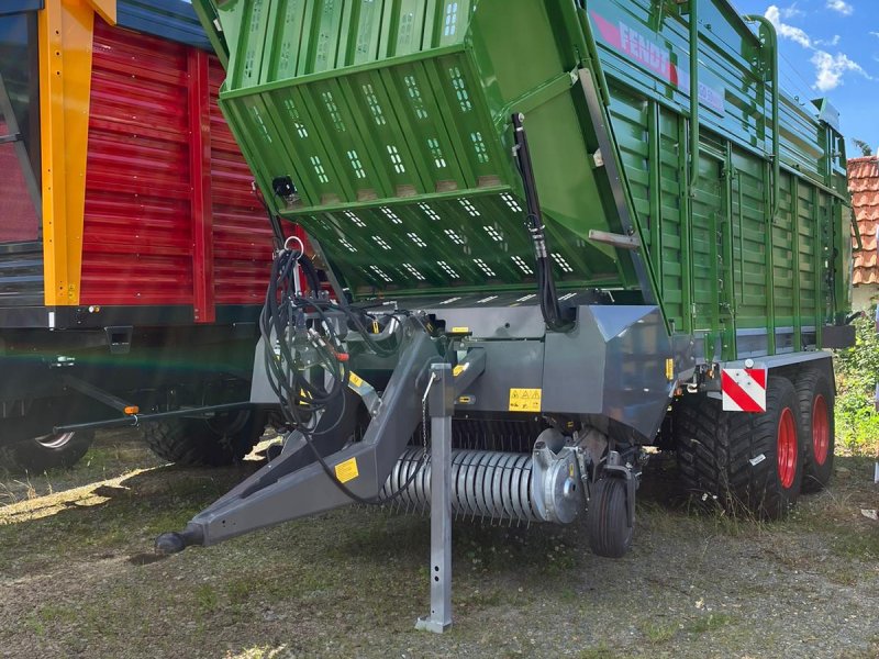
[[[836,359],[836,447],[847,455],[879,455],[879,414],[874,406],[879,382],[879,336],[875,308],[855,321],[857,339]]]

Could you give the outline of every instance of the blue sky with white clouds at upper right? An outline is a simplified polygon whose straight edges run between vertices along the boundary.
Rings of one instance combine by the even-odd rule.
[[[781,83],[801,98],[828,97],[853,137],[879,147],[879,0],[731,0],[739,13],[775,23]],[[806,97],[806,94],[809,94]]]

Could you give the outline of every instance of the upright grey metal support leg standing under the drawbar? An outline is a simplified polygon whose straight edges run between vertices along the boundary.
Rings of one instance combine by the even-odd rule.
[[[431,615],[416,629],[442,634],[452,626],[452,366],[431,366]]]

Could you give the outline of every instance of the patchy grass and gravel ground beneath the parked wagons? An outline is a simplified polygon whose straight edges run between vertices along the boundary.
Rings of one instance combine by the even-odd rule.
[[[154,537],[258,466],[163,466],[99,435],[68,472],[0,474],[0,657],[879,657],[872,463],[765,524],[697,512],[658,459],[634,550],[457,522],[455,625],[429,605],[429,520],[346,509],[163,560]]]

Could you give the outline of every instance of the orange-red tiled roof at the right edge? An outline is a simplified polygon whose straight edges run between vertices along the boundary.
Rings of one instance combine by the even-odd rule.
[[[852,209],[858,221],[861,252],[855,253],[854,283],[879,283],[879,156],[848,161],[848,189]],[[855,242],[857,244],[857,242]]]

